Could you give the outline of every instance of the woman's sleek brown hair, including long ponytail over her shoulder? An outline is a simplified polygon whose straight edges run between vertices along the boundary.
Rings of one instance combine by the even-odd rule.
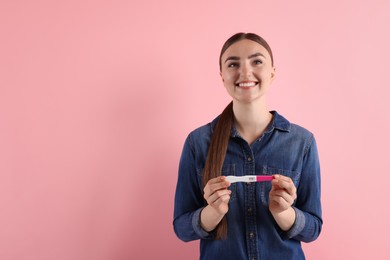
[[[259,43],[263,46],[271,56],[271,62],[273,64],[272,51],[268,43],[254,33],[237,33],[231,36],[223,45],[221,54],[219,56],[219,68],[222,69],[221,58],[225,51],[234,43],[248,39]],[[202,174],[203,187],[206,186],[210,179],[216,178],[222,175],[222,165],[225,160],[229,139],[231,135],[231,129],[234,122],[233,114],[233,101],[224,109],[219,116],[218,122],[215,126],[214,133],[211,137],[209,150],[207,152],[207,158]],[[221,222],[215,228],[215,239],[224,239],[227,237],[227,220],[226,215],[222,218]]]

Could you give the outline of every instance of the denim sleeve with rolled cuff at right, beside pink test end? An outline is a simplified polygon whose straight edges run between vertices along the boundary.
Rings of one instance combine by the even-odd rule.
[[[316,141],[311,136],[303,158],[297,200],[293,206],[296,219],[286,239],[311,242],[318,238],[322,228],[321,177]]]

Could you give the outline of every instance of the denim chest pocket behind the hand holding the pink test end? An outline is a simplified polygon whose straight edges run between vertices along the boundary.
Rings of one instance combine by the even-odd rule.
[[[263,167],[262,174],[263,175],[270,175],[270,176],[271,175],[275,175],[275,174],[280,174],[280,175],[283,175],[283,176],[290,177],[296,188],[298,188],[299,180],[300,180],[300,176],[301,176],[300,172],[284,170],[284,169],[277,169],[277,168],[270,168],[270,167],[267,167],[267,166]],[[259,185],[260,185],[260,200],[261,200],[261,203],[264,206],[268,207],[268,204],[269,204],[269,192],[271,191],[272,184],[269,181],[265,181],[265,182],[260,182]]]

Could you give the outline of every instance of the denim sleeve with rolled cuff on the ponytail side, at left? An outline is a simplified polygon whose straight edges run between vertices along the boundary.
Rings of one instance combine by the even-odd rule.
[[[180,157],[173,220],[177,237],[185,242],[213,237],[200,226],[200,214],[205,206],[200,171],[196,167],[191,136],[188,136]]]

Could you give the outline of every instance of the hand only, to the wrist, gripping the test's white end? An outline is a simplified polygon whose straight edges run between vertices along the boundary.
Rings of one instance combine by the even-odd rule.
[[[203,189],[204,199],[219,215],[224,216],[229,210],[229,200],[231,190],[228,190],[230,183],[226,181],[225,176],[219,176],[210,179]]]

